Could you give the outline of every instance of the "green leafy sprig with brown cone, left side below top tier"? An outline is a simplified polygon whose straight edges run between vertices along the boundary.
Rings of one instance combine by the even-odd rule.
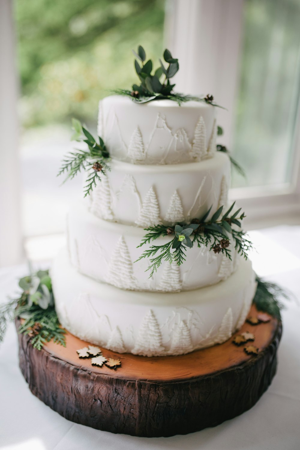
[[[101,175],[106,175],[106,171],[110,170],[108,165],[109,153],[103,139],[98,136],[97,141],[97,139],[81,125],[79,120],[72,119],[72,129],[74,133],[71,140],[85,142],[88,150],[76,148],[73,152],[67,153],[63,159],[58,175],[67,173],[67,178],[65,179],[65,181],[67,181],[69,179],[72,180],[81,170],[87,171],[84,187],[86,197],[91,193],[97,182],[101,181]]]

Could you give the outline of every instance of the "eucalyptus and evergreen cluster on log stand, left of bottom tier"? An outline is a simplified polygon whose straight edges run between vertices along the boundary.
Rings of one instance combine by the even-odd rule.
[[[0,342],[3,341],[7,323],[15,317],[22,319],[19,333],[28,334],[31,345],[38,350],[45,342],[66,346],[66,330],[60,327],[54,309],[54,298],[48,270],[39,270],[19,280],[20,297],[0,305]]]

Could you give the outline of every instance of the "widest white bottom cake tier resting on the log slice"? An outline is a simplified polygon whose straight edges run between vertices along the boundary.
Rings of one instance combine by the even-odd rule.
[[[214,286],[179,293],[123,291],[79,274],[67,251],[52,271],[55,308],[70,333],[119,353],[181,355],[227,341],[255,294],[251,261]]]

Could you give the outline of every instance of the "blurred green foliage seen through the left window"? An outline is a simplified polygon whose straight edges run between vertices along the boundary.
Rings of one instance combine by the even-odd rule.
[[[157,59],[164,0],[15,0],[25,127],[95,121],[99,99],[135,80],[131,49]]]

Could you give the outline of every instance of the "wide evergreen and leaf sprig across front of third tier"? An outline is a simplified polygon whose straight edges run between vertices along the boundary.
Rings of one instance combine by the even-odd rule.
[[[241,229],[241,221],[244,219],[245,214],[241,213],[242,208],[232,213],[234,205],[235,202],[223,215],[223,206],[219,207],[210,220],[207,219],[210,215],[211,207],[201,219],[194,219],[188,225],[177,224],[175,227],[156,225],[146,228],[145,231],[147,233],[138,247],[150,244],[161,236],[172,236],[175,234],[175,237],[172,237],[165,244],[151,245],[136,261],[140,261],[143,258],[150,259],[150,266],[146,271],[150,270],[149,278],[151,278],[153,273],[161,266],[162,261],[167,261],[170,264],[175,261],[180,266],[186,261],[186,247],[192,248],[196,243],[198,247],[203,245],[214,253],[223,253],[231,260],[229,238],[233,240],[237,253],[247,258],[247,252],[252,248],[252,243]],[[193,237],[191,238],[190,236],[192,235]]]

